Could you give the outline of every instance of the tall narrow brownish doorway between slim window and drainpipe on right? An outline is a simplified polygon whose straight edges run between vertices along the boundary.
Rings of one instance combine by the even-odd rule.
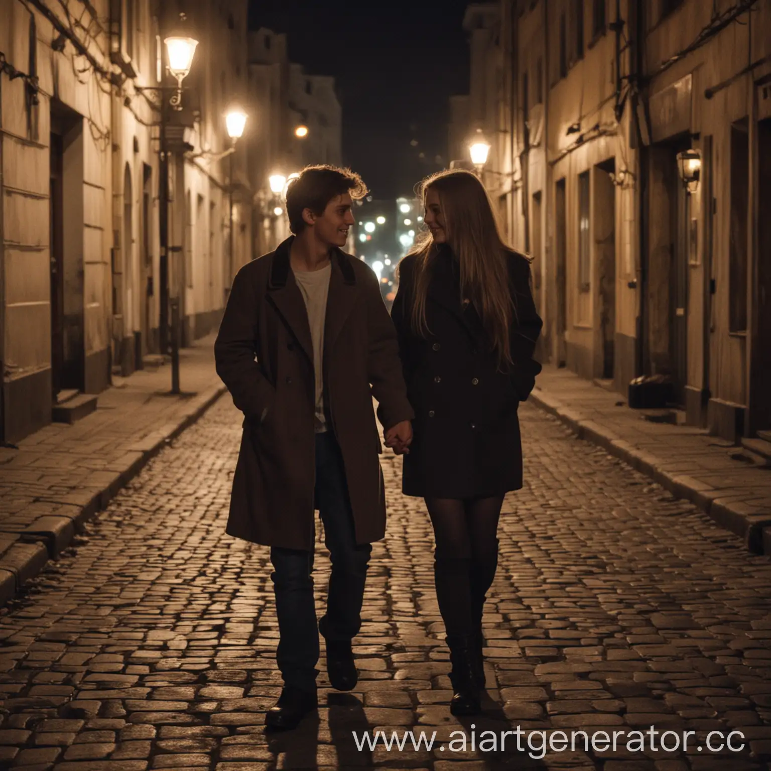
[[[611,179],[615,161],[594,167],[594,266],[597,271],[597,310],[595,312],[595,372],[602,379],[614,377],[616,335],[616,188]]]

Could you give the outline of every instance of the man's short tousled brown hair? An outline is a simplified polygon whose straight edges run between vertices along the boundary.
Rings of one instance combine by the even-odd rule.
[[[362,177],[355,171],[328,165],[306,166],[287,188],[289,230],[297,235],[305,229],[302,218],[305,209],[321,215],[329,201],[338,195],[350,193],[353,200],[359,200],[367,192]]]

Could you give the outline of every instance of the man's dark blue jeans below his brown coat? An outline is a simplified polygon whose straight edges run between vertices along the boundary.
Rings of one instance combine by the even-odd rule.
[[[315,508],[329,550],[327,611],[316,621],[313,551],[271,547],[271,574],[278,616],[276,661],[284,685],[316,687],[318,632],[330,641],[351,640],[362,625],[362,601],[372,544],[357,544],[342,453],[334,434],[316,434]]]

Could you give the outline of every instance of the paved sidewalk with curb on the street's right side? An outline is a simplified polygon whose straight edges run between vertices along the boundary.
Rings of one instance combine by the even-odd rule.
[[[734,460],[735,446],[704,429],[644,420],[625,396],[564,369],[544,367],[530,399],[582,439],[691,500],[749,550],[771,554],[771,470]]]

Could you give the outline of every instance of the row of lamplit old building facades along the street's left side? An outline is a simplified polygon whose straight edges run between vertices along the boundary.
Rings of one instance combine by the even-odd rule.
[[[251,257],[251,194],[236,195],[231,251],[241,180],[224,156],[224,110],[246,96],[246,3],[0,0],[0,19],[0,436],[13,441],[62,395],[98,394],[160,352],[162,297],[179,302],[183,341],[217,324]],[[163,38],[177,32],[199,44],[182,109],[164,110]]]

